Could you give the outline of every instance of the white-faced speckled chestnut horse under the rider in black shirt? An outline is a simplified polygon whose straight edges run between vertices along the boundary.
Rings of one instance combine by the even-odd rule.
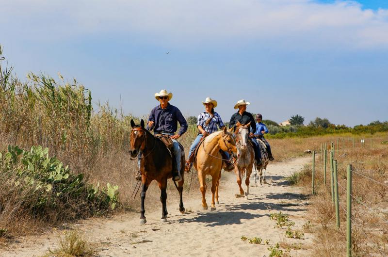
[[[240,188],[240,194],[236,194],[236,197],[246,196],[248,198],[249,177],[251,176],[252,167],[255,163],[255,150],[250,144],[248,144],[249,126],[250,122],[246,125],[242,125],[240,122],[237,122],[236,130],[234,132],[236,135],[236,146],[240,150],[240,156],[237,158],[236,165],[234,167],[234,172],[237,176],[237,184]],[[244,193],[244,190],[241,187],[241,180],[245,172],[246,192]]]

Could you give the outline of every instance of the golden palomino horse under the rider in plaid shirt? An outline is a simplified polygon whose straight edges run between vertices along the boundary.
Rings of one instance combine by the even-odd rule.
[[[226,128],[222,131],[211,133],[205,137],[203,143],[198,148],[197,156],[194,160],[194,168],[198,171],[198,180],[200,184],[199,190],[202,193],[202,207],[208,209],[205,199],[206,193],[206,175],[211,176],[211,210],[215,210],[214,197],[218,202],[218,186],[220,184],[221,169],[223,159],[219,153],[223,151],[231,151],[233,155],[237,153],[234,138]]]

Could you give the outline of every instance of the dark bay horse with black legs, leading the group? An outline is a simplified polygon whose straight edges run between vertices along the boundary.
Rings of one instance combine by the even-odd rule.
[[[158,181],[159,188],[161,189],[161,202],[162,202],[162,222],[167,221],[167,179],[172,177],[173,159],[171,157],[170,151],[167,146],[164,145],[162,140],[154,137],[145,127],[144,121],[141,120],[140,125],[135,125],[133,120],[130,121],[130,126],[132,130],[130,132],[130,146],[129,146],[129,154],[132,160],[138,156],[139,151],[142,151],[143,157],[140,161],[140,172],[142,174],[142,209],[140,211],[140,224],[145,224],[146,216],[144,213],[146,210],[144,209],[144,199],[146,198],[146,191],[148,189],[149,184],[152,180]],[[175,183],[175,186],[179,192],[179,211],[181,213],[185,212],[182,201],[182,192],[183,192],[183,175],[184,175],[184,165],[185,165],[185,156],[183,147],[181,147],[181,152],[183,156],[181,156],[180,160],[180,175],[182,180],[178,182],[178,186]]]

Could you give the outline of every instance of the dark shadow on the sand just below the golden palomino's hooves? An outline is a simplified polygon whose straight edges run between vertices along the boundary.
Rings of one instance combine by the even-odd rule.
[[[240,208],[236,208],[240,209]],[[177,221],[178,223],[204,223],[205,226],[222,226],[222,225],[238,225],[242,224],[242,220],[252,220],[263,216],[269,216],[269,214],[252,214],[244,211],[210,211],[200,213],[193,218],[183,218]]]

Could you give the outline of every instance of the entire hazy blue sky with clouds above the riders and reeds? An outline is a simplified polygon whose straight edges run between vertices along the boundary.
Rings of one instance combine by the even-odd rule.
[[[276,122],[388,119],[385,1],[0,1],[20,78],[61,72],[95,102],[121,96],[126,114],[147,114],[167,89],[185,116],[210,96],[224,121],[242,98]]]

